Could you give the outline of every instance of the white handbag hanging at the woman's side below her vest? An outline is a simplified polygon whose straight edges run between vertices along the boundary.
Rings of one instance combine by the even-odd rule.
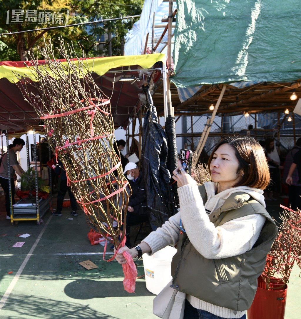
[[[173,289],[171,284],[172,280],[155,297],[153,313],[163,319],[183,319],[186,293]]]

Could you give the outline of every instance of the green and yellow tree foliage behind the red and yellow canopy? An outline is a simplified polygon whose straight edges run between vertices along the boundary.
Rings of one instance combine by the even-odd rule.
[[[17,32],[32,30],[35,28],[44,28],[54,25],[42,24],[34,25],[28,23],[6,24],[7,11],[20,10],[55,10],[68,9],[68,24],[96,21],[102,19],[114,19],[141,14],[143,0],[36,0],[34,2],[24,0],[4,0],[0,1],[0,33]],[[58,47],[60,36],[64,39],[65,45],[72,44],[75,53],[82,56],[82,50],[85,56],[108,56],[111,48],[112,56],[121,54],[121,43],[126,41],[125,36],[138,20],[128,19],[105,21],[103,23],[72,26],[47,31],[31,31],[28,33],[19,33],[14,35],[0,36],[0,60],[1,61],[22,61],[27,59],[28,51],[35,56],[38,54],[37,46],[44,45],[43,37],[48,43],[51,39],[54,48]],[[112,41],[107,40],[107,33],[112,34]],[[80,46],[77,45],[80,44]],[[22,54],[23,53],[23,54]],[[55,49],[56,58],[61,58],[58,50]],[[37,55],[38,59],[43,56]]]

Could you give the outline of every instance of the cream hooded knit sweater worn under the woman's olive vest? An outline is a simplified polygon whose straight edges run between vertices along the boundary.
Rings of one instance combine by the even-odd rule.
[[[253,214],[231,220],[218,227],[210,222],[208,216],[211,211],[221,207],[229,195],[241,191],[249,194],[265,207],[263,191],[240,186],[215,194],[216,183],[207,182],[204,185],[208,195],[205,204],[202,202],[196,184],[185,185],[178,189],[180,211],[143,240],[151,248],[149,255],[168,245],[174,246],[178,242],[180,219],[182,219],[182,227],[187,232],[189,240],[205,258],[218,259],[236,256],[253,247],[265,222],[263,216]],[[240,318],[246,313],[246,311],[240,311],[234,314],[231,309],[212,305],[190,295],[187,295],[187,300],[197,309],[203,309],[224,318]]]

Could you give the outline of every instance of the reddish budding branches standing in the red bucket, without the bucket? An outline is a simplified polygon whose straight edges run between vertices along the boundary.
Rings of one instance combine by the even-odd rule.
[[[301,266],[301,212],[284,210],[278,235],[268,253],[261,278],[266,289],[281,289],[288,282],[296,261]]]

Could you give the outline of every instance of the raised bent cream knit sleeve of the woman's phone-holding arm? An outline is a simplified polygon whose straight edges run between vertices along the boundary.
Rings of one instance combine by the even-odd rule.
[[[205,258],[218,259],[239,255],[253,247],[265,217],[254,214],[215,227],[202,204],[197,185],[178,189],[182,226],[195,249]]]

